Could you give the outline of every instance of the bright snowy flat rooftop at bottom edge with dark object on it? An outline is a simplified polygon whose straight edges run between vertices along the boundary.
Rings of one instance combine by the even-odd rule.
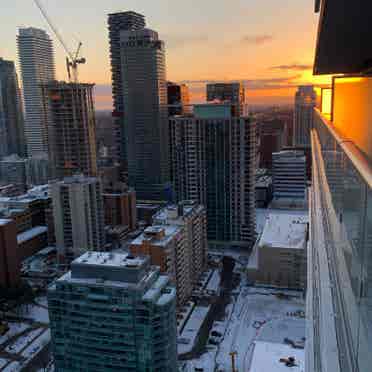
[[[295,365],[287,367],[280,359],[293,357]],[[305,351],[286,344],[256,341],[250,372],[305,372]]]

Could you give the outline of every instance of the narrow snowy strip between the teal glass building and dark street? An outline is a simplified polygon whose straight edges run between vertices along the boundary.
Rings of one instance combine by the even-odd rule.
[[[208,314],[210,306],[195,306],[182,333],[178,338],[178,354],[185,354],[192,350],[196,336]]]

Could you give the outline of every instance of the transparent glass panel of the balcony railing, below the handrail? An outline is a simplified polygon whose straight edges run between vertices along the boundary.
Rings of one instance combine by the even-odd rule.
[[[356,166],[364,155],[354,157],[356,147],[346,151],[348,141],[319,112],[314,129],[320,145],[320,153],[317,148],[313,151],[321,169],[327,254],[337,293],[332,300],[340,366],[343,371],[368,371],[372,365],[372,189]]]

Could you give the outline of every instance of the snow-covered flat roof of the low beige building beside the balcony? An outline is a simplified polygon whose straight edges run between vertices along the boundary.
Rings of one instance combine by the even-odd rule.
[[[305,245],[308,218],[288,213],[272,213],[266,219],[259,246],[296,248]]]

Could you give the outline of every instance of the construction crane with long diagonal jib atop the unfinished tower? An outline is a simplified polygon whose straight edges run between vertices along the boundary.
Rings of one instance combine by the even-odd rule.
[[[61,43],[63,49],[67,53],[67,57],[66,57],[66,68],[67,68],[68,80],[70,82],[73,81],[73,82],[77,83],[78,82],[78,65],[79,64],[83,64],[83,63],[86,62],[86,59],[84,57],[80,57],[79,58],[79,53],[81,51],[81,47],[82,47],[83,44],[79,41],[78,47],[76,49],[76,52],[75,52],[75,54],[73,54],[69,50],[69,48],[67,47],[67,45],[64,42],[61,34],[58,32],[57,28],[54,26],[53,22],[51,21],[51,19],[48,16],[48,13],[44,9],[44,7],[40,3],[40,1],[39,0],[34,0],[34,3],[39,8],[41,14],[43,15],[43,17],[47,21],[49,27],[51,28],[51,30],[53,31],[54,35],[57,37],[58,41]],[[72,79],[71,79],[71,70],[72,70]]]

